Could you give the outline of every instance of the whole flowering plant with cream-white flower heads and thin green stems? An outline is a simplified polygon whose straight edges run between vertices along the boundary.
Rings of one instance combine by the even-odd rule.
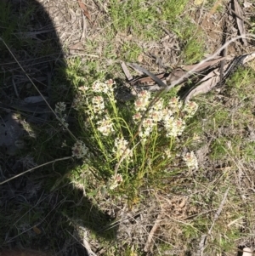
[[[187,119],[198,106],[191,101],[184,105],[173,96],[150,105],[152,95],[141,91],[136,100],[120,107],[115,88],[115,82],[109,80],[77,90],[72,108],[79,120],[86,120],[82,123],[87,134],[73,145],[72,156],[82,158],[98,177],[108,180],[105,185],[110,191],[125,186],[123,191],[136,191],[146,179],[169,170],[173,158],[178,157],[174,141],[184,133]],[[65,105],[57,107],[63,116]],[[183,155],[182,160],[189,169],[198,168],[194,152]]]

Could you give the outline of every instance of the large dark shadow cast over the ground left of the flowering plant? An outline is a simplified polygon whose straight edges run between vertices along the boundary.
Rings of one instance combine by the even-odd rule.
[[[116,230],[102,232],[110,217],[66,182],[76,163],[55,162],[3,183],[37,164],[71,156],[70,148],[60,146],[69,134],[51,128],[54,116],[26,76],[52,107],[64,95],[54,87],[60,79],[71,102],[72,88],[65,79],[64,53],[53,22],[36,1],[1,1],[0,37],[0,247],[87,255],[82,247],[84,230],[105,239],[112,239]],[[53,189],[56,180],[60,182]]]

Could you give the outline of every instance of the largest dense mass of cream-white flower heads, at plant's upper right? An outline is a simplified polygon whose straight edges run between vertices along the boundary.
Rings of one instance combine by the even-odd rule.
[[[134,103],[135,110],[137,111],[133,115],[133,121],[139,122],[142,118],[142,111],[145,111],[150,103],[150,93],[142,92],[138,94],[138,99]],[[162,99],[157,100],[154,105],[150,108],[148,115],[144,117],[142,123],[142,129],[139,132],[139,136],[143,139],[149,137],[153,128],[158,122],[162,122],[165,129],[167,130],[167,137],[177,137],[181,135],[185,128],[184,119],[178,117],[178,113],[182,110],[182,102],[177,98],[173,97],[168,100],[167,106],[164,107]],[[192,117],[197,110],[195,102],[189,102],[184,107],[185,117]]]

